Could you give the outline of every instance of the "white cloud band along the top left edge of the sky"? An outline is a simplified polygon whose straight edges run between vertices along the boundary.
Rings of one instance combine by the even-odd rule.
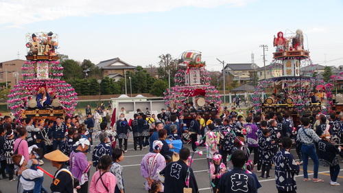
[[[67,16],[166,12],[181,7],[216,8],[223,5],[235,7],[244,6],[251,1],[254,0],[3,0],[0,1],[0,25],[18,27]]]

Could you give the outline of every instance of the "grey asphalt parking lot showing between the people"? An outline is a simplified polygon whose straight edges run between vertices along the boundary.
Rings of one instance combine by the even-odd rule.
[[[99,141],[94,141],[94,144],[98,144]],[[185,144],[186,147],[191,148],[190,144]],[[199,150],[204,150],[204,147],[199,147]],[[124,160],[121,162],[121,166],[123,166],[123,179],[124,179],[124,186],[127,193],[140,193],[140,192],[147,192],[144,190],[143,182],[145,179],[141,177],[140,172],[140,163],[143,156],[148,152],[149,150],[147,148],[143,148],[143,150],[133,150],[133,142],[132,140],[128,143],[128,152],[125,153]],[[296,157],[296,152],[294,149],[291,150],[294,157]],[[250,158],[252,158],[253,155],[250,155]],[[91,153],[88,153],[87,155],[88,160],[91,160]],[[297,159],[297,157],[296,157]],[[340,158],[339,158],[340,159]],[[340,159],[342,160],[342,159]],[[51,166],[51,163],[47,159],[43,159],[45,161],[45,164],[42,166],[47,172],[50,172],[51,174],[54,174],[56,172],[56,168],[53,168]],[[341,168],[343,168],[343,163],[340,163]],[[209,186],[209,173],[208,173],[208,166],[206,161],[206,155],[198,155],[195,154],[194,156],[194,162],[192,163],[193,172],[196,176],[196,180],[198,183],[198,187],[200,189],[200,193],[205,192],[211,192]],[[273,167],[274,168],[274,167]],[[300,166],[300,169],[302,169],[302,166]],[[313,177],[313,173],[311,173],[311,170],[313,170],[313,162],[309,160],[309,177]],[[322,167],[319,168],[319,178],[324,180],[324,183],[314,183],[313,181],[303,181],[303,172],[300,170],[299,175],[296,177],[296,182],[298,185],[297,192],[311,192],[311,193],[322,193],[322,192],[343,192],[343,169],[341,169],[340,175],[338,177],[338,183],[340,183],[340,186],[332,186],[329,184],[330,182],[330,174],[329,174],[329,168],[328,167]],[[91,176],[95,172],[95,168],[91,168]],[[257,173],[257,176],[259,176],[260,173]],[[272,169],[270,171],[270,174],[272,177],[274,177],[274,170]],[[47,175],[44,176],[45,180],[43,185],[47,190],[49,190],[50,184],[52,182],[52,179],[48,177]],[[261,193],[269,193],[269,192],[277,192],[275,187],[275,180],[274,179],[259,179],[259,182],[261,183],[262,187],[259,188],[258,192]],[[7,179],[0,180],[0,190],[3,193],[14,193],[16,192],[16,185],[17,181],[8,182]]]

